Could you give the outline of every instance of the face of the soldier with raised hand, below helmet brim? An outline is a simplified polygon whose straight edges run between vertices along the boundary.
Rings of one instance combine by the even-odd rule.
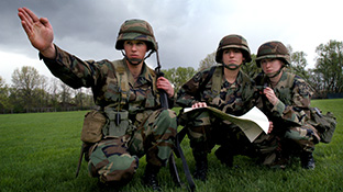
[[[132,63],[139,63],[144,59],[147,46],[143,41],[125,41],[124,52]]]

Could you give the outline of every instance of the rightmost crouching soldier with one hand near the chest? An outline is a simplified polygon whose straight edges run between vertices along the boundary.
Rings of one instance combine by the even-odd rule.
[[[314,169],[312,153],[320,137],[307,123],[312,89],[303,79],[286,70],[290,56],[281,42],[261,45],[256,65],[263,69],[255,79],[256,84],[263,87],[259,109],[273,122],[272,135],[281,139],[281,161],[287,163],[289,153],[295,153],[300,156],[303,168]]]

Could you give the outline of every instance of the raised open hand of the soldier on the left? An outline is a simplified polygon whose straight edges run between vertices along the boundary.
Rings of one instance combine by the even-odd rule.
[[[18,16],[32,44],[47,58],[55,58],[54,31],[46,18],[37,18],[30,9],[19,8]]]

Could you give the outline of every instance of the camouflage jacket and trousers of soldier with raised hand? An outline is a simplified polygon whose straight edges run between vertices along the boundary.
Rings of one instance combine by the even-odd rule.
[[[100,176],[103,181],[109,181],[115,178],[112,176],[112,173],[115,172],[114,169],[123,165],[125,165],[124,168],[120,168],[119,172],[128,170],[126,173],[132,174],[132,172],[134,172],[132,171],[132,167],[135,167],[133,163],[135,161],[135,156],[142,157],[144,154],[147,154],[146,160],[148,162],[153,162],[156,166],[165,166],[167,156],[172,154],[177,133],[176,114],[170,110],[159,110],[162,106],[159,93],[154,88],[156,86],[154,84],[154,78],[156,78],[153,72],[154,70],[150,69],[147,65],[144,64],[142,74],[137,80],[134,81],[125,65],[125,60],[122,59],[121,61],[124,63],[125,70],[129,74],[130,90],[128,98],[121,98],[122,94],[120,92],[119,79],[115,76],[115,69],[112,61],[82,61],[76,56],[62,50],[57,46],[56,50],[57,57],[54,60],[41,56],[54,76],[58,77],[63,82],[74,89],[80,87],[91,88],[95,103],[100,106],[100,110],[110,106],[129,111],[130,121],[135,127],[139,127],[139,131],[132,132],[132,135],[125,136],[125,139],[128,140],[123,140],[129,147],[126,154],[121,154],[121,151],[119,151],[117,155],[109,156],[109,165],[107,166],[103,165],[102,158],[100,158],[100,160],[90,159],[95,167],[99,168],[100,166],[98,163],[100,162],[104,166],[101,169],[90,169],[97,172],[90,172],[90,174],[93,177]],[[125,101],[126,103],[123,104],[122,101]],[[119,105],[119,103],[121,104]],[[113,153],[114,148],[112,146],[117,146],[117,143],[112,145],[107,142],[98,144],[97,148],[99,148],[99,153],[97,150],[93,153],[101,155],[101,151],[103,151],[103,148],[108,145],[111,146],[109,147],[109,150]],[[91,156],[95,157],[96,154],[92,154]],[[130,158],[129,155],[131,156]],[[113,167],[111,163],[118,165],[118,167]],[[131,167],[128,168],[128,165],[131,165]],[[125,174],[122,173],[120,176]],[[130,177],[124,177],[122,179],[126,180],[125,178]],[[115,178],[115,180],[119,179]]]

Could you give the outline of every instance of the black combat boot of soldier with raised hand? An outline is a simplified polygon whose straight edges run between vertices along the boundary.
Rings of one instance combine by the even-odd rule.
[[[158,181],[157,173],[159,172],[161,167],[147,163],[145,167],[143,182],[145,185],[152,188],[154,191],[162,191]]]

